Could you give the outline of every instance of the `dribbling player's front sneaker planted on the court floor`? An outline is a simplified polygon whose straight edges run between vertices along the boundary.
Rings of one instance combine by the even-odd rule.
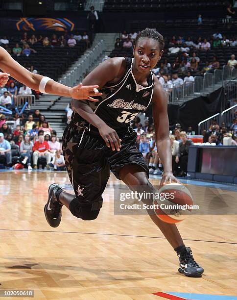
[[[179,257],[179,273],[189,277],[202,277],[204,269],[195,262],[189,247],[177,252]]]

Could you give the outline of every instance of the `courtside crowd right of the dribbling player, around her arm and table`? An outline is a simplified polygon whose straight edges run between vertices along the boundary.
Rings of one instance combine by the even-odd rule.
[[[134,121],[133,127],[137,132],[137,148],[142,152],[150,174],[162,175],[163,165],[159,158],[156,144],[155,132],[152,118],[141,124],[139,117]],[[183,177],[187,175],[189,147],[193,145],[191,135],[194,132],[191,127],[187,131],[176,124],[174,130],[170,130],[171,152],[172,152],[172,171],[175,176]],[[221,127],[214,120],[209,129],[203,132],[203,142],[206,145],[222,146],[225,137],[231,138],[231,146],[237,146],[237,118],[233,124],[221,124]]]

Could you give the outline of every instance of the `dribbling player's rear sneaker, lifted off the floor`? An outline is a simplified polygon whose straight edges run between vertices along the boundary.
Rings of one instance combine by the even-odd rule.
[[[63,191],[60,185],[56,183],[51,184],[48,188],[48,200],[47,204],[45,205],[45,217],[47,223],[51,227],[58,227],[61,222],[63,204],[57,199],[57,193],[59,190]]]

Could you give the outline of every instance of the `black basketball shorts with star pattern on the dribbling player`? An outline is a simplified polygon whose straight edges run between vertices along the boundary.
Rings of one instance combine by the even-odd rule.
[[[120,151],[108,148],[101,136],[76,125],[68,125],[62,138],[63,154],[76,197],[87,203],[102,200],[110,171],[120,179],[125,165],[136,164],[149,176],[142,153],[136,148],[137,133],[131,127],[119,134]]]

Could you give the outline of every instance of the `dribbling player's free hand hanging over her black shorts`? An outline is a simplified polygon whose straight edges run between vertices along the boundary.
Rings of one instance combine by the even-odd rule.
[[[99,134],[105,141],[107,147],[109,148],[111,147],[113,151],[114,150],[120,151],[122,140],[119,139],[119,136],[115,131],[115,129],[105,124],[100,128],[98,128],[98,130],[99,130]]]

